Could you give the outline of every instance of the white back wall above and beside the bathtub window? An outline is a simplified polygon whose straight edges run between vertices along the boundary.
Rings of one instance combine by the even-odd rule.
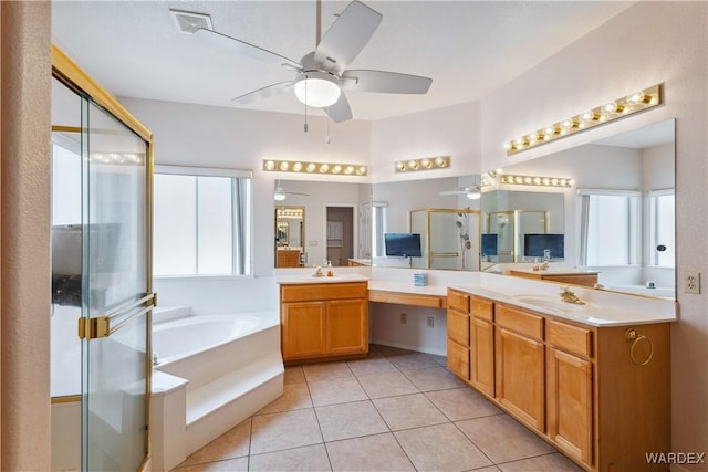
[[[275,179],[292,174],[264,172],[263,159],[369,164],[371,124],[350,120],[330,126],[326,119],[282,113],[253,112],[171,102],[121,98],[155,137],[155,162],[179,166],[232,167],[254,170],[253,261],[257,276],[274,268],[273,189]],[[308,180],[368,182],[369,177],[308,176]]]

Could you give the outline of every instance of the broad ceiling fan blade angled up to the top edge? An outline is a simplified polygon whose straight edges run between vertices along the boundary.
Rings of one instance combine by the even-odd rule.
[[[354,0],[324,34],[314,59],[325,70],[341,74],[371,40],[382,18],[379,12]]]

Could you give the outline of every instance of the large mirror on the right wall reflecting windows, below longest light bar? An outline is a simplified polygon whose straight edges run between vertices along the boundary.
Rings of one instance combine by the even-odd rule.
[[[675,298],[674,129],[657,123],[502,169],[570,188],[486,175],[481,269],[596,273],[603,290]]]

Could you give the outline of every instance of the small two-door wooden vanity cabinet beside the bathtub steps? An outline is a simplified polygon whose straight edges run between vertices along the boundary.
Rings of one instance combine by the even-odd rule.
[[[366,282],[282,284],[281,348],[285,363],[368,352]]]

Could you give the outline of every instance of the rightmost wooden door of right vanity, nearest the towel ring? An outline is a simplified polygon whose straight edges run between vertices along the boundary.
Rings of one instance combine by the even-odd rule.
[[[592,364],[554,348],[548,357],[549,434],[559,449],[592,465]]]

